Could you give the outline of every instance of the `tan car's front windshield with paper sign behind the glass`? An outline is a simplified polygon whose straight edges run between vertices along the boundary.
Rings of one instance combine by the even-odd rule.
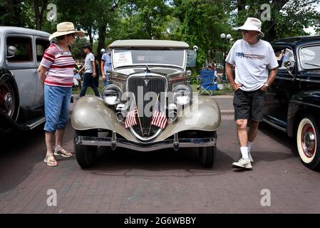
[[[185,64],[184,50],[120,50],[113,53],[113,66],[132,65],[171,65],[183,68]]]

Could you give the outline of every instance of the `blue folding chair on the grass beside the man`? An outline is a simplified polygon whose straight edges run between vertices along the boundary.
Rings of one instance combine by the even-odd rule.
[[[197,76],[197,84],[199,85],[199,95],[202,95],[203,93],[213,95],[213,91],[217,90],[217,84],[215,83],[215,71],[201,70],[200,76]]]

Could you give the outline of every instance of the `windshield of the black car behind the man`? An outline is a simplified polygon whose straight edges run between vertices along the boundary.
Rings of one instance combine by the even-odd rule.
[[[305,69],[320,68],[320,46],[307,46],[300,50],[301,66]]]

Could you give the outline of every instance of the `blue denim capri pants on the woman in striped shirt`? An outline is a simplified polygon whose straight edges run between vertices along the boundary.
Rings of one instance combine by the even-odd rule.
[[[49,133],[64,129],[68,124],[71,87],[44,85],[44,111],[46,124],[44,130]]]

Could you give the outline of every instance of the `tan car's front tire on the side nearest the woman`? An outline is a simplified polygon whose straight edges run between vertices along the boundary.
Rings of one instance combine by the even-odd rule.
[[[98,137],[98,130],[76,130],[74,151],[76,152],[76,158],[78,164],[82,168],[91,167],[96,161],[98,146],[96,145],[77,145],[76,137],[77,136],[89,136],[89,137]]]

